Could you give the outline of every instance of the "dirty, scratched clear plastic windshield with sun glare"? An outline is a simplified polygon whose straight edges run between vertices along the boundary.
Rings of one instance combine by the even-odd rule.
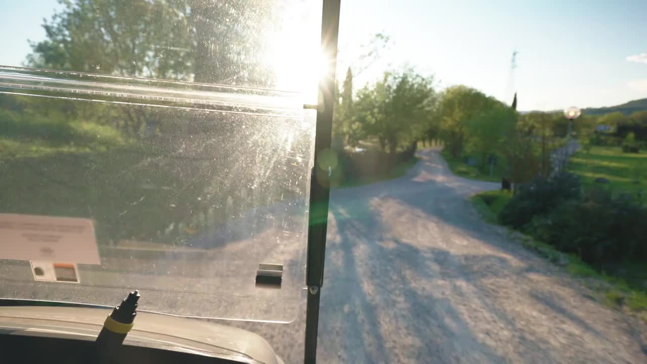
[[[41,3],[2,16],[0,298],[292,321],[321,3]]]

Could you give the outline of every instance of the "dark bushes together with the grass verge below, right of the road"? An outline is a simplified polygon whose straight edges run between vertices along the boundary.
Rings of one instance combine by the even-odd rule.
[[[647,207],[626,194],[583,188],[575,174],[536,179],[512,196],[489,191],[472,201],[483,219],[525,234],[522,244],[587,284],[609,306],[647,319]]]

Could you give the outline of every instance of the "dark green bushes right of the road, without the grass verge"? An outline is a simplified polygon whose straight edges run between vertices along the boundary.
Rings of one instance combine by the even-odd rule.
[[[613,196],[602,188],[582,192],[573,174],[521,187],[499,220],[597,267],[647,263],[647,208],[628,194]]]

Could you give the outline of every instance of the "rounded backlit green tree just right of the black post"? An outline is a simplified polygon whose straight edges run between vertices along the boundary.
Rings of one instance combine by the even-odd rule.
[[[375,85],[360,89],[353,105],[364,133],[392,156],[424,135],[435,100],[433,78],[405,69],[386,72]]]

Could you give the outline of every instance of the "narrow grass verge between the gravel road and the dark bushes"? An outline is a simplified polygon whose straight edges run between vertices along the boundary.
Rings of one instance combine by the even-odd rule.
[[[505,191],[487,191],[472,196],[472,204],[483,220],[498,224],[498,214],[512,194]],[[636,264],[624,264],[621,273],[598,271],[574,254],[562,253],[552,245],[535,240],[531,236],[509,229],[509,234],[521,245],[534,251],[576,277],[595,291],[598,301],[617,310],[627,310],[647,322],[647,267]]]

